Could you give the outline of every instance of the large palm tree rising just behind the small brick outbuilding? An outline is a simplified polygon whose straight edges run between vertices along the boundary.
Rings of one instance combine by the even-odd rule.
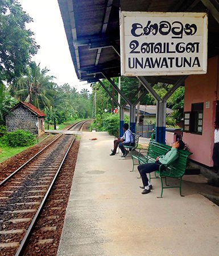
[[[39,65],[31,63],[28,75],[19,77],[13,84],[15,97],[39,109],[49,108],[56,94],[56,84],[52,81],[54,76],[48,76],[48,72],[47,68],[40,70]]]

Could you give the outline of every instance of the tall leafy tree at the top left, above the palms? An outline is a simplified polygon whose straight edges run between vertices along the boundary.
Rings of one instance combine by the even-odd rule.
[[[0,82],[11,82],[26,73],[37,52],[33,32],[26,29],[30,22],[17,0],[0,0]]]

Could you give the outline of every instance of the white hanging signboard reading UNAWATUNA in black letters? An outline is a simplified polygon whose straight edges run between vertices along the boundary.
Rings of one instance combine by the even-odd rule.
[[[120,19],[122,75],[206,73],[206,13],[122,11]]]

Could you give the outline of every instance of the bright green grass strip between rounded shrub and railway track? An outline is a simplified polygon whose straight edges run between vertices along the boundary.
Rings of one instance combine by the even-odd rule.
[[[43,141],[44,138],[48,137],[48,135],[44,135],[42,137],[40,137],[39,142]],[[36,144],[36,143],[35,143]],[[34,145],[31,146],[26,146],[26,147],[6,147],[4,145],[1,144],[0,142],[0,163],[4,162],[5,160],[11,158],[11,156],[14,156],[24,150],[26,150],[28,147],[32,147]]]

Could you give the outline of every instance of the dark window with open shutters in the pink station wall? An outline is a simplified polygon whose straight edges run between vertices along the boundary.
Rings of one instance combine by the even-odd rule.
[[[184,131],[186,133],[203,134],[204,103],[192,104],[191,112],[184,112]]]

